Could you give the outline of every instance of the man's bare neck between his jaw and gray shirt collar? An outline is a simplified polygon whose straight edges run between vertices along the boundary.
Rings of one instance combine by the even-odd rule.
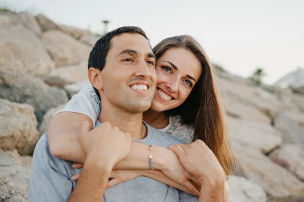
[[[130,114],[124,110],[102,106],[98,121],[109,122],[123,132],[129,132],[132,139],[143,139],[147,136],[147,128],[142,122],[142,113]]]

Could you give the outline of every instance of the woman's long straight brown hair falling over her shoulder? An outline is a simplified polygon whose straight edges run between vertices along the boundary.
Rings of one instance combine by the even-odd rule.
[[[213,67],[202,46],[188,35],[173,36],[162,40],[154,48],[157,59],[170,48],[184,48],[191,51],[202,65],[198,83],[183,104],[169,110],[169,115],[180,115],[183,124],[194,126],[194,139],[203,140],[213,151],[225,175],[233,174],[236,161],[225,124],[225,111],[220,102]]]

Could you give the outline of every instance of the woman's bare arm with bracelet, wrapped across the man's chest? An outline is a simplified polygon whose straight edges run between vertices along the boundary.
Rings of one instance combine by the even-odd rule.
[[[88,121],[86,125],[86,135],[90,133],[102,134],[102,130],[97,126],[93,130],[92,120],[86,115],[71,112],[61,112],[57,114],[49,126],[49,146],[51,153],[61,159],[84,163],[86,154],[83,151],[78,140],[78,132],[80,125],[83,127],[83,121]],[[165,176],[183,184],[189,190],[195,190],[195,186],[191,184],[189,179],[197,184],[199,181],[193,175],[190,175],[180,164],[174,151],[154,145],[153,151],[148,149],[149,145],[132,142],[127,157],[115,165],[115,170],[128,169],[149,169],[148,156],[153,155],[153,166],[156,170],[161,170]],[[140,152],[139,152],[140,151]]]

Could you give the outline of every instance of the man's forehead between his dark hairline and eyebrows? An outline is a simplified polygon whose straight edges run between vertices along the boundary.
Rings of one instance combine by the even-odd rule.
[[[138,52],[144,52],[143,54],[152,52],[149,42],[141,34],[124,33],[111,39],[112,51],[120,52],[130,48],[136,49]]]

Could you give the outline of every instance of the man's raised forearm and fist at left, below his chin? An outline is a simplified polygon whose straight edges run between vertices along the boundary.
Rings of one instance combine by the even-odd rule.
[[[107,122],[90,132],[89,129],[86,121],[79,128],[79,141],[87,159],[68,202],[101,201],[113,166],[130,150],[130,133],[124,133]]]

